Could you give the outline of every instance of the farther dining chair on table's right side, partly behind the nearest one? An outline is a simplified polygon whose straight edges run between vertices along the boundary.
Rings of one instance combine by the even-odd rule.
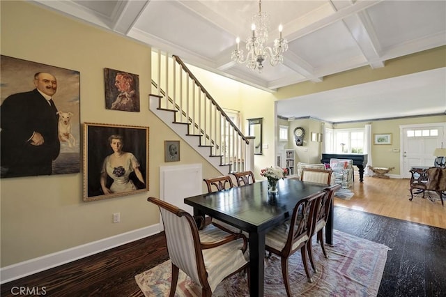
[[[318,201],[314,210],[314,226],[312,227],[312,233],[310,235],[309,241],[307,241],[307,250],[309,261],[312,264],[314,273],[317,273],[316,266],[314,265],[313,258],[313,243],[312,238],[314,234],[317,234],[317,241],[321,244],[322,252],[325,258],[328,258],[328,254],[325,251],[325,243],[323,241],[323,229],[328,221],[328,214],[330,213],[330,208],[333,203],[334,192],[341,188],[341,184],[337,183],[330,185],[330,187],[325,188],[323,191],[325,195]]]

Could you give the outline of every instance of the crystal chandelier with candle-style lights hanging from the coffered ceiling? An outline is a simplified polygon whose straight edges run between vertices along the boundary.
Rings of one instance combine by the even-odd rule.
[[[270,16],[262,12],[262,1],[259,1],[259,13],[252,16],[252,37],[246,40],[246,59],[243,50],[240,50],[240,38],[236,39],[237,47],[231,54],[232,61],[246,63],[251,70],[258,69],[262,73],[263,62],[269,57],[271,66],[284,62],[284,52],[288,50],[288,41],[282,38],[282,24],[279,25],[279,38],[274,40],[272,47],[266,47],[268,41],[268,27]]]

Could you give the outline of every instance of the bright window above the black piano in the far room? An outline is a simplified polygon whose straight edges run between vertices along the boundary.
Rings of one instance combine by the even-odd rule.
[[[333,153],[364,153],[364,129],[333,130]]]

